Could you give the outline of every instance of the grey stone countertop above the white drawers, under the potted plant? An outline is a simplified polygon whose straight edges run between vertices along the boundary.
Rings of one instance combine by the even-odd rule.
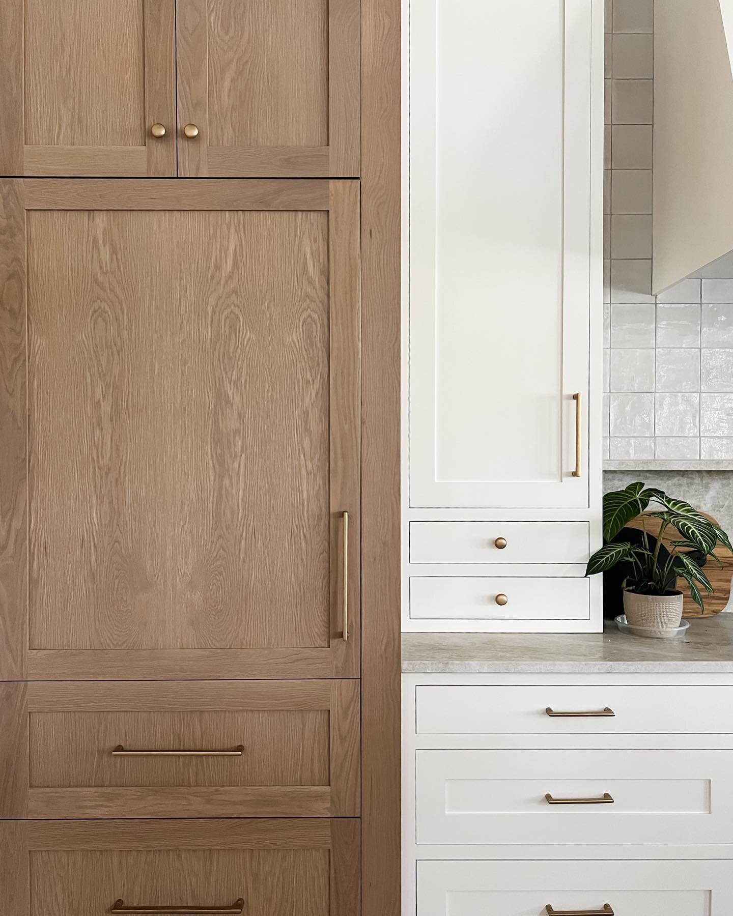
[[[402,671],[427,674],[733,674],[733,614],[682,639],[603,633],[403,633]]]

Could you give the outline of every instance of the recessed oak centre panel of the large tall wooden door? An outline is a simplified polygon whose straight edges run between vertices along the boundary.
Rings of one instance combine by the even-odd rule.
[[[32,649],[329,645],[328,259],[323,213],[29,214]]]

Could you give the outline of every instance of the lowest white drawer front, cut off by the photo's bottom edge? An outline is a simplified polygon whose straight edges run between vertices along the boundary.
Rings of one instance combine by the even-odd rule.
[[[418,862],[417,916],[729,916],[729,862]]]

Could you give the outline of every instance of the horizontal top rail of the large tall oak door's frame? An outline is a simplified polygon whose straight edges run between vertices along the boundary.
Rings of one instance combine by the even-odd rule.
[[[328,210],[327,181],[27,180],[28,210]]]

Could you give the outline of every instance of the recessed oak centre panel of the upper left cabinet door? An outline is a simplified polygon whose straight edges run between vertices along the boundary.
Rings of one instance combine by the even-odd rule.
[[[25,0],[28,146],[145,146],[140,0]]]

